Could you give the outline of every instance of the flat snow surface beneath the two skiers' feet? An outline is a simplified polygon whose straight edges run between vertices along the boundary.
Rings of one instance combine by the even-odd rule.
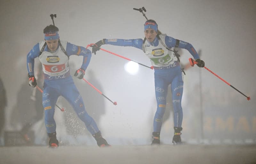
[[[256,163],[255,145],[0,147],[0,164]]]

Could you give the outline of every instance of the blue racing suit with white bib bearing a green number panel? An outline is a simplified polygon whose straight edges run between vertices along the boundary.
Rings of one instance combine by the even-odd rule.
[[[153,42],[148,42],[145,40],[143,43],[142,39],[106,39],[105,44],[131,46],[145,52],[145,54],[151,60],[155,70],[154,75],[157,109],[153,123],[154,132],[160,133],[161,131],[162,119],[166,107],[167,87],[170,84],[174,108],[174,127],[181,128],[183,119],[181,107],[183,75],[178,58],[175,56],[173,51],[167,50],[166,47],[169,49],[173,49],[174,47],[186,49],[190,52],[194,59],[199,59],[194,47],[190,43],[174,39],[167,35],[159,35],[159,37],[156,37]]]

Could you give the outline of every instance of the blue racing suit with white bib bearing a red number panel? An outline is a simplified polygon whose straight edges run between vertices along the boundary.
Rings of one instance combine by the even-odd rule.
[[[56,123],[53,115],[55,104],[59,96],[63,96],[74,108],[78,117],[85,123],[86,128],[93,135],[99,132],[99,129],[90,115],[85,110],[83,99],[77,90],[74,81],[69,72],[69,56],[83,56],[82,69],[86,70],[89,65],[92,53],[90,50],[81,46],[61,41],[67,54],[65,54],[60,45],[55,52],[50,52],[47,45],[40,54],[44,42],[37,43],[27,55],[28,75],[34,75],[34,59],[39,57],[44,72],[44,91],[43,101],[45,113],[45,126],[47,133],[56,132]]]

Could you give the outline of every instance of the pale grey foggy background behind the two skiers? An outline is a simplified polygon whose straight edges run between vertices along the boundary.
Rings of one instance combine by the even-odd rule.
[[[201,59],[206,67],[245,95],[251,96],[250,101],[246,100],[242,94],[204,68],[195,66],[188,69],[184,76],[182,98],[182,140],[190,143],[200,143],[202,140],[205,143],[255,143],[255,0],[1,0],[0,77],[8,98],[5,130],[20,130],[19,126],[12,126],[11,113],[21,84],[27,82],[26,87],[29,88],[26,56],[36,43],[43,41],[44,27],[52,24],[50,14],[57,14],[54,23],[60,30],[60,40],[86,47],[102,38],[143,38],[146,19],[140,12],[133,10],[142,6],[147,10],[147,18],[156,20],[162,33],[189,42],[197,51],[201,50]],[[150,60],[139,49],[111,45],[103,45],[102,48],[151,66]],[[183,50],[181,62],[186,64],[188,58],[192,56]],[[72,75],[80,68],[81,60],[82,57],[70,57],[70,63],[75,65],[71,70]],[[138,73],[132,75],[124,70],[127,62],[128,60],[104,51],[92,55],[85,79],[88,78],[89,81],[89,78],[94,78],[99,82],[95,87],[100,86],[104,95],[117,102],[115,106],[107,99],[101,100],[105,111],[97,124],[110,144],[149,144],[156,112],[154,71],[139,66]],[[35,63],[38,66],[38,58]],[[200,69],[202,111],[199,99]],[[87,74],[89,71],[93,75]],[[74,81],[81,95],[86,95],[90,88],[88,84],[76,78]],[[85,97],[83,98],[85,101]],[[62,106],[63,103],[59,105]],[[93,110],[100,110],[96,103],[94,107],[88,112],[93,118]],[[17,110],[22,113],[26,109]],[[62,118],[59,123],[56,121],[58,137],[58,134],[65,134],[59,129],[64,128],[61,120],[65,116],[58,108],[55,108],[56,115]],[[161,140],[167,144],[171,143],[173,136],[173,118],[170,115],[161,131]],[[201,116],[204,118],[203,125]]]

